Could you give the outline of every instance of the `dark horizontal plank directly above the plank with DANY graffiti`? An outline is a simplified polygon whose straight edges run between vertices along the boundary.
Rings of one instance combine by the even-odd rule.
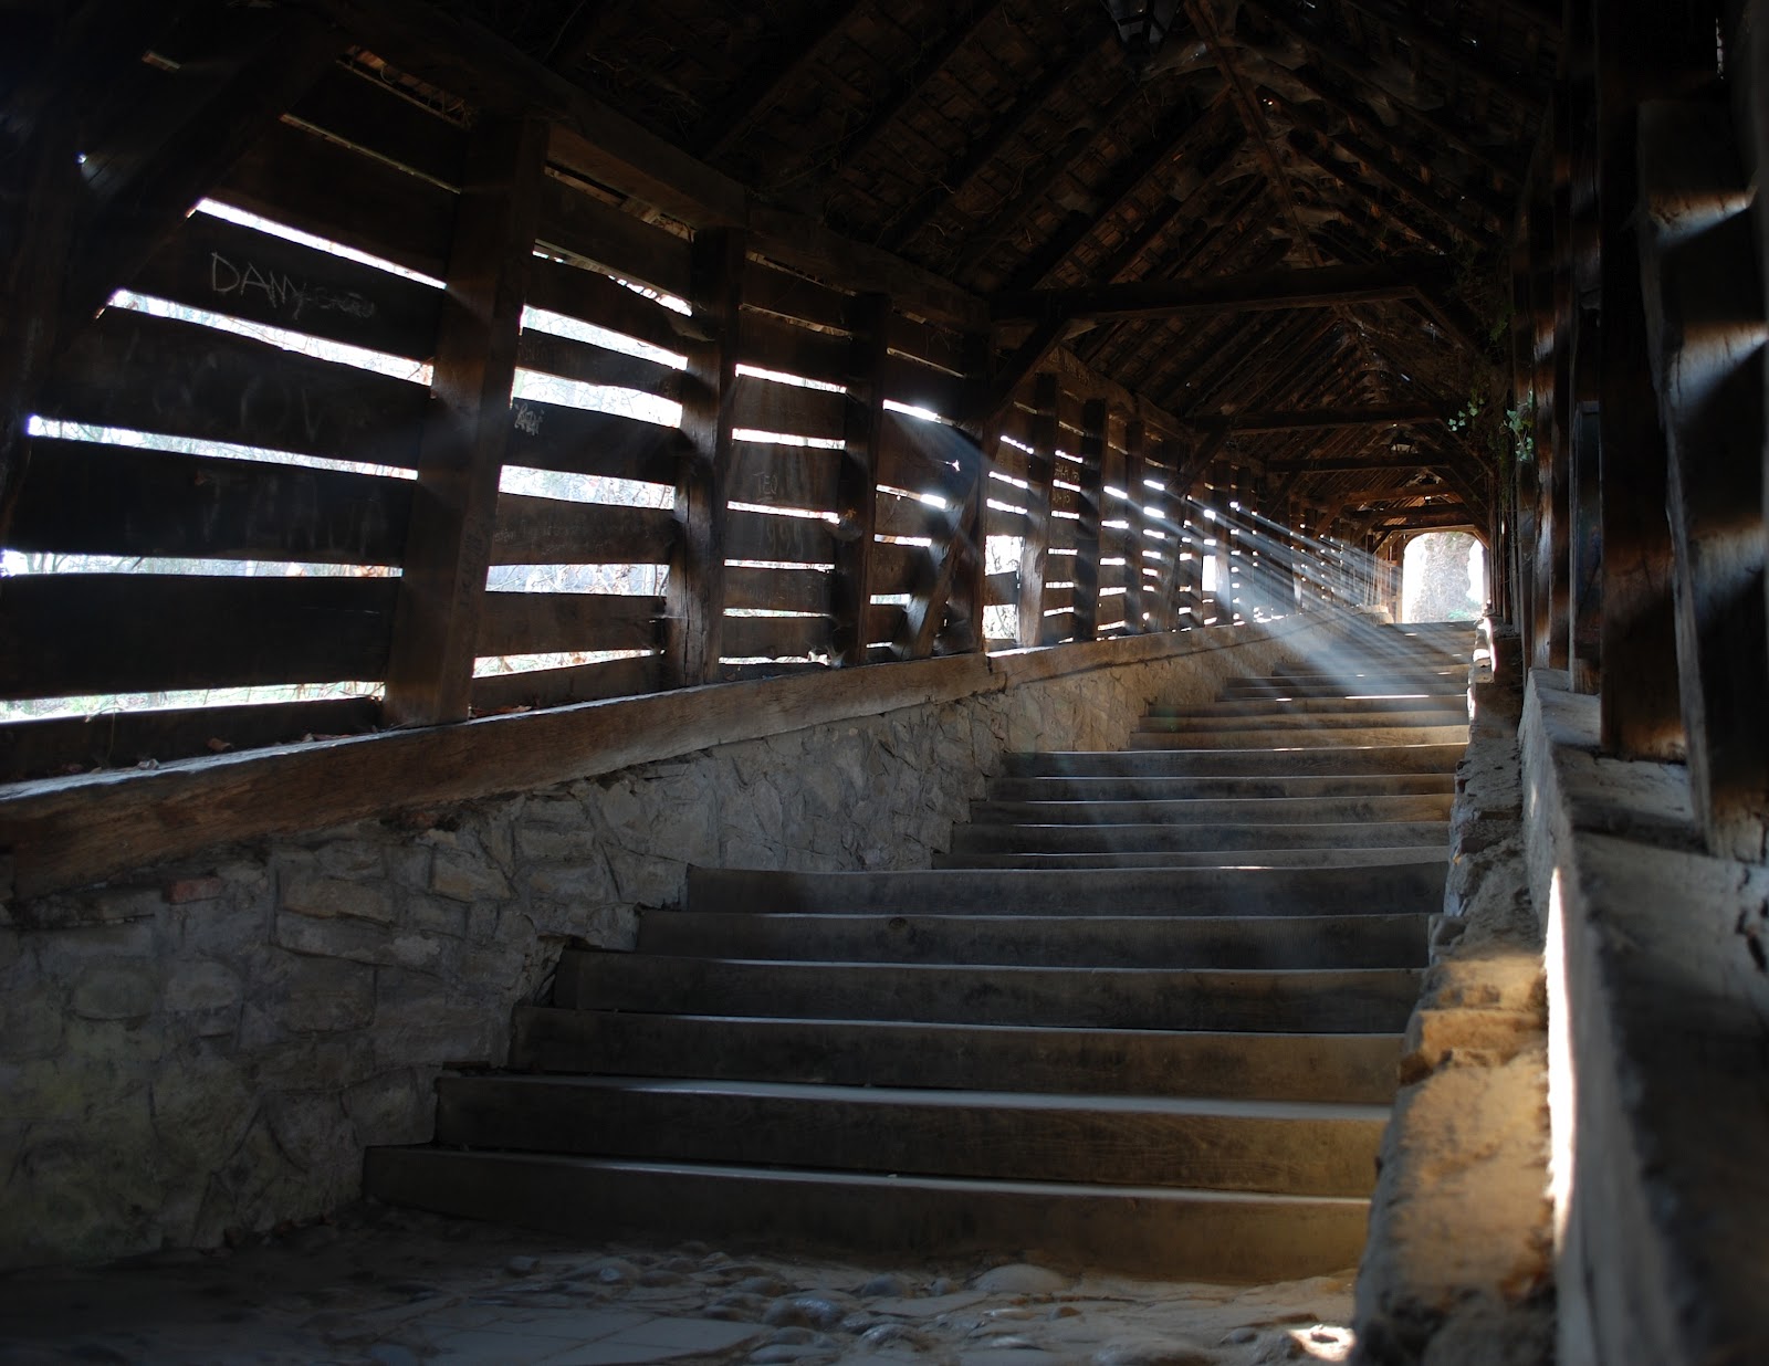
[[[432,280],[448,274],[453,191],[290,124],[265,129],[209,198]]]

